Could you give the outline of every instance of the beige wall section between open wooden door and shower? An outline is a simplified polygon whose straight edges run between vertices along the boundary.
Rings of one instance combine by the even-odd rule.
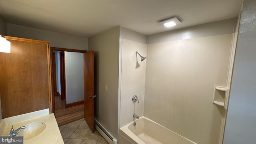
[[[115,138],[118,135],[119,36],[120,27],[116,27],[88,39],[88,50],[94,51],[94,117]]]

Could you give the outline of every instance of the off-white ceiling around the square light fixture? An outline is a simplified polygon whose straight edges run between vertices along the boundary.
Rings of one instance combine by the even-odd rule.
[[[176,16],[175,29],[235,18],[241,0],[0,0],[7,23],[91,37],[116,26],[145,35],[173,30],[158,24]]]

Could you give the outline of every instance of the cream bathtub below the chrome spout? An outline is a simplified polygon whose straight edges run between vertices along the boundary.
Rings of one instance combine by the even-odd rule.
[[[120,144],[196,144],[144,116],[133,123],[120,128]]]

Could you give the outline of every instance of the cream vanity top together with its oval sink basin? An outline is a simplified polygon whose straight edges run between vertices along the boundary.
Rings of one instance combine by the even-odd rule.
[[[23,136],[24,144],[64,144],[54,114],[40,114],[31,112],[0,120],[0,136],[9,136],[12,126],[14,130],[26,126],[16,134]]]

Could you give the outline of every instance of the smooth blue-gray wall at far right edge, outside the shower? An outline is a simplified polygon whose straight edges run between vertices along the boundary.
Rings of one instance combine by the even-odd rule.
[[[244,0],[223,144],[256,143],[255,8],[255,0]]]

